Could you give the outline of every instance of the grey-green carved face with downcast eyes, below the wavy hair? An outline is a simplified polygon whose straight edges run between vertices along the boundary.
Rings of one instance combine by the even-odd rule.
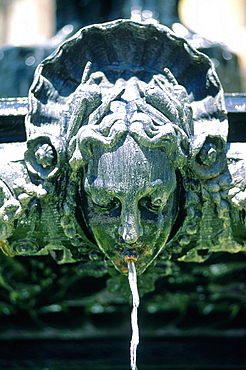
[[[176,174],[165,152],[132,137],[113,149],[97,147],[84,189],[87,222],[101,250],[123,274],[129,260],[142,273],[176,218]]]

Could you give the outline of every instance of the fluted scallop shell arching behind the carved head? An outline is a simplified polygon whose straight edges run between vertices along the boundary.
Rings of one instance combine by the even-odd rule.
[[[219,125],[225,139],[223,92],[209,58],[165,26],[128,20],[81,29],[38,66],[29,93],[27,135],[46,132],[64,136],[68,106],[76,105],[71,96],[91,73],[103,72],[112,84],[119,78],[128,80],[133,76],[148,83],[154,75],[163,74],[165,68],[188,93],[196,122],[195,135],[203,135],[204,139],[208,133],[215,135]],[[77,98],[81,94],[83,91],[77,91]],[[94,101],[100,99],[99,95],[96,90],[90,92]],[[84,96],[86,100],[85,92]],[[92,110],[90,106],[90,113]],[[207,120],[210,125],[204,125]]]

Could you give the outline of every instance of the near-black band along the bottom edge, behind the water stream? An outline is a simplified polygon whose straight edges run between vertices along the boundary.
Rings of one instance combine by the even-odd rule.
[[[0,367],[32,370],[127,369],[128,338],[1,341]],[[142,338],[139,369],[244,369],[242,338]],[[14,351],[14,355],[13,355]]]

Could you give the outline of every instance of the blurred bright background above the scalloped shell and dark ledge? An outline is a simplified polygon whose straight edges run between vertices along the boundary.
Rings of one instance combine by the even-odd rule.
[[[0,0],[0,97],[27,96],[61,42],[117,18],[167,25],[212,58],[225,92],[246,91],[246,0]]]

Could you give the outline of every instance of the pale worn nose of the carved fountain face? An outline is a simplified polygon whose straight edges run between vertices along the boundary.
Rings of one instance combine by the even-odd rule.
[[[122,204],[118,233],[127,244],[136,243],[138,238],[143,235],[140,212],[134,203]]]

